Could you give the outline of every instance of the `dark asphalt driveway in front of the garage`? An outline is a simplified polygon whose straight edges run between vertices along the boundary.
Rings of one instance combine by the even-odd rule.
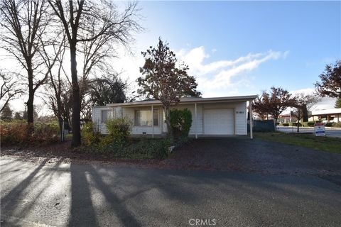
[[[206,170],[341,175],[339,154],[244,137],[192,140],[164,162]]]

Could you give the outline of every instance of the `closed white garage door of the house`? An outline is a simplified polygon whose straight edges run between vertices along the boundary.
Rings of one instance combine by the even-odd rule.
[[[205,135],[234,135],[233,109],[205,109]]]

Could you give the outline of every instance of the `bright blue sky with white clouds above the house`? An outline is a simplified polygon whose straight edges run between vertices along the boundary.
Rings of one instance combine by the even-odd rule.
[[[158,37],[189,65],[203,97],[272,86],[312,94],[325,65],[341,59],[341,1],[140,1],[139,8],[145,31],[134,35],[131,54],[118,48],[112,60],[131,91],[141,51]],[[323,99],[315,109],[334,104]]]

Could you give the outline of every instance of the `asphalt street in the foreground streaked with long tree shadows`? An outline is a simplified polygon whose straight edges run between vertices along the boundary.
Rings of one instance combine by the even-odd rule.
[[[192,219],[216,226],[341,226],[340,175],[154,170],[9,156],[0,166],[1,226],[191,226]]]

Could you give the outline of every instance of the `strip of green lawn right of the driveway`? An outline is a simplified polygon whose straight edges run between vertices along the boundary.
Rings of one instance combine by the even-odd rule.
[[[305,148],[313,148],[315,150],[323,150],[330,153],[341,154],[341,139],[330,138],[326,136],[316,137],[313,134],[296,134],[296,133],[254,133],[254,138],[273,141],[279,143],[287,143],[298,145]]]

